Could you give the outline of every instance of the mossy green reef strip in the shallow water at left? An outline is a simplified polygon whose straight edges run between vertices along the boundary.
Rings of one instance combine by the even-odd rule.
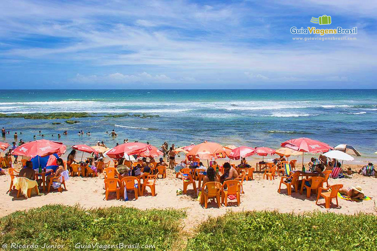
[[[24,119],[70,119],[92,117],[89,113],[0,113],[0,118],[24,118]]]

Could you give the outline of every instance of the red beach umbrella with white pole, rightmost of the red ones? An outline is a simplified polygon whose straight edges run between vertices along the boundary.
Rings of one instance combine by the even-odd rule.
[[[311,138],[295,138],[281,143],[282,147],[287,147],[299,152],[322,153],[334,148],[318,140]],[[302,166],[304,165],[304,155],[302,154]]]

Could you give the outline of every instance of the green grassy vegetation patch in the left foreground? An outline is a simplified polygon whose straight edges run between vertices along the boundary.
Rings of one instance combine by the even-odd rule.
[[[76,243],[139,243],[155,245],[153,250],[165,250],[178,240],[178,221],[182,217],[185,213],[179,210],[143,211],[129,207],[84,210],[78,206],[47,205],[1,218],[0,243],[35,243],[37,249],[44,243],[64,245],[59,250],[74,250]]]

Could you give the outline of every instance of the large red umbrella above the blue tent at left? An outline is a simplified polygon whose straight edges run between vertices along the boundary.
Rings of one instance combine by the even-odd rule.
[[[51,154],[64,154],[67,146],[61,142],[52,140],[34,140],[14,149],[13,155],[22,155],[34,158],[35,156],[45,157]]]

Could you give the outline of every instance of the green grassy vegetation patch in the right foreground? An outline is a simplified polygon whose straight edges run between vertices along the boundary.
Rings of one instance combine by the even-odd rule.
[[[336,213],[304,215],[227,213],[198,227],[189,250],[376,250],[377,217]]]

